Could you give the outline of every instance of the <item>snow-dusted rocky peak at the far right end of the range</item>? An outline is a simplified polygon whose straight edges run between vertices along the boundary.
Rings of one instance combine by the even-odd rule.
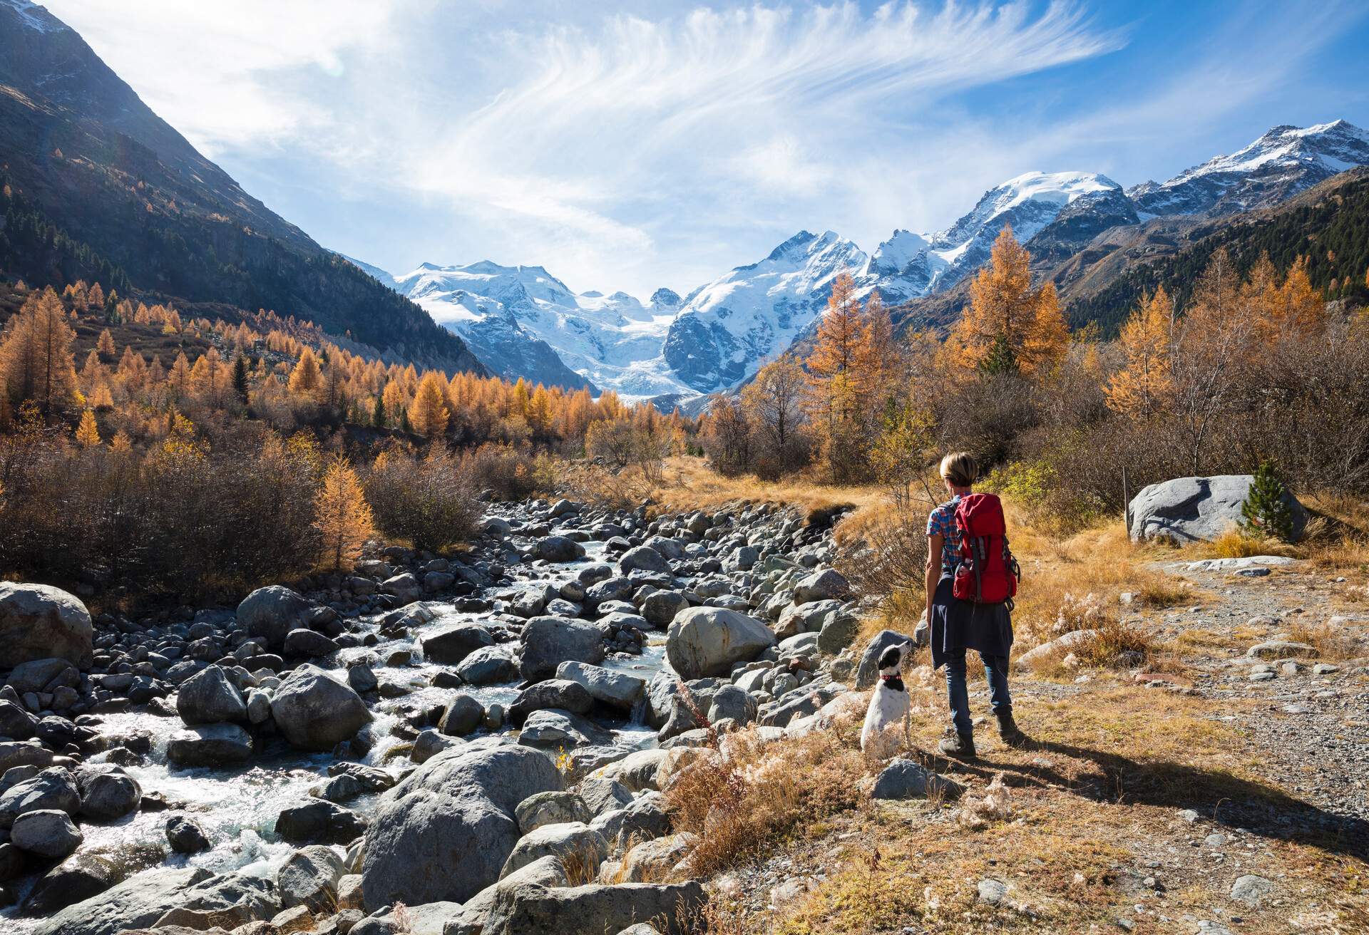
[[[1369,133],[1346,120],[1276,126],[1231,156],[1216,156],[1168,182],[1127,192],[1140,216],[1218,216],[1284,201],[1355,166],[1369,166]]]

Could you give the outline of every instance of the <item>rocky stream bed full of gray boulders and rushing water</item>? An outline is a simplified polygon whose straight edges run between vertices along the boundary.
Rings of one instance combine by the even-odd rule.
[[[684,931],[668,775],[857,679],[834,519],[491,502],[456,557],[138,620],[0,585],[0,928]]]

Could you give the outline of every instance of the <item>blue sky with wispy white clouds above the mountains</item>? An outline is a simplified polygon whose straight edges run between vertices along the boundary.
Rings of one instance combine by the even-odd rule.
[[[939,230],[1031,170],[1129,186],[1369,126],[1364,3],[45,5],[326,246],[643,298],[799,229]]]

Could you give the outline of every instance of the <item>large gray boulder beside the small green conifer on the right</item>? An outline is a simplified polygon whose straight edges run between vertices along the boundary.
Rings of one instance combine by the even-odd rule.
[[[1250,496],[1254,476],[1249,474],[1218,474],[1210,478],[1176,478],[1142,487],[1131,500],[1131,538],[1212,542],[1240,522],[1240,508]],[[1288,493],[1292,511],[1292,538],[1302,537],[1307,526],[1307,511]]]

